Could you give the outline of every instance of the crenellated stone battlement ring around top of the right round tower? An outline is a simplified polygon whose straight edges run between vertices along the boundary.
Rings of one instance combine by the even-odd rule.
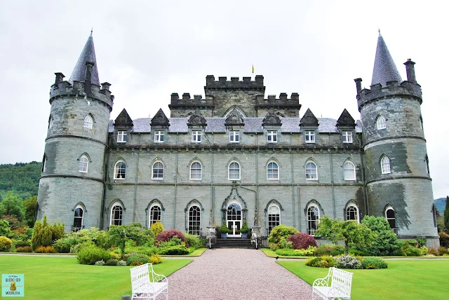
[[[361,79],[356,79],[356,84],[358,88],[360,82]],[[389,81],[387,82],[387,86],[382,87],[382,85],[378,83],[375,84],[374,86],[371,86],[370,88],[371,89],[363,88],[363,90],[358,91],[356,96],[358,111],[361,111],[362,107],[368,102],[384,97],[395,97],[395,96],[415,97],[420,102],[420,104],[422,103],[421,86],[411,81],[403,81],[400,84],[397,81]]]

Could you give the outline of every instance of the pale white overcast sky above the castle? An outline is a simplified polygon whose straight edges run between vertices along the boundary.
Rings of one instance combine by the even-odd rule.
[[[25,3],[24,3],[25,2]],[[412,58],[434,198],[449,194],[447,1],[0,1],[0,163],[41,161],[55,72],[69,79],[91,33],[114,119],[170,114],[170,93],[204,96],[206,75],[262,74],[265,95],[300,94],[300,116],[359,119],[377,29],[403,79]],[[254,64],[255,74],[251,74]]]

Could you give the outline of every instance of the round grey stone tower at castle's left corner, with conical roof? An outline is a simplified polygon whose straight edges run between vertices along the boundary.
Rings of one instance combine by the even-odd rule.
[[[69,81],[55,73],[39,180],[37,219],[65,231],[101,226],[105,152],[114,96],[98,79],[92,34]]]

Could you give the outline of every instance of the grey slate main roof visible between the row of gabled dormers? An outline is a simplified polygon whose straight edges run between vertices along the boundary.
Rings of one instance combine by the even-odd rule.
[[[168,118],[170,127],[168,132],[188,132],[187,121],[189,118]],[[243,132],[264,132],[262,121],[264,118],[243,118],[245,125]],[[134,127],[131,132],[151,132],[151,118],[137,118],[133,120]],[[226,118],[206,118],[206,132],[226,132]],[[300,118],[281,118],[281,132],[301,132]],[[318,132],[338,133],[337,120],[335,118],[318,118]],[[356,132],[362,132],[360,121],[356,121]],[[109,132],[114,132],[114,122],[109,121]]]

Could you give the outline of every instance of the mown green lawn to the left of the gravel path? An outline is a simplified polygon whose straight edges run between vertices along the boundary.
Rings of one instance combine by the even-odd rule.
[[[192,259],[163,259],[154,271],[170,275]],[[86,266],[76,257],[0,255],[0,273],[25,274],[21,299],[121,299],[130,294],[130,266]]]

